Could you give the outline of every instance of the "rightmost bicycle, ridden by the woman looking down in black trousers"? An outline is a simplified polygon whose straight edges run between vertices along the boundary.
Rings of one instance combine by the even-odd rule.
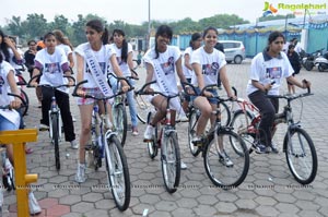
[[[311,95],[313,94],[308,88],[307,93],[297,95],[268,96],[270,98],[286,100],[282,112],[274,116],[273,128],[280,123],[286,123],[288,125],[282,150],[285,153],[286,162],[293,177],[301,184],[309,184],[314,181],[318,162],[314,143],[308,133],[302,129],[301,119],[298,121],[294,120],[291,101]],[[239,106],[241,109],[235,111],[231,126],[234,128],[246,144],[248,144],[247,148],[250,154],[259,142],[258,126],[261,121],[261,116],[258,109],[247,100],[241,100]],[[301,110],[303,110],[302,108]]]

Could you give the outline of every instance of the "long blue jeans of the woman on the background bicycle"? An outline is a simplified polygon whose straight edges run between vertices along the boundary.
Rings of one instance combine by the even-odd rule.
[[[117,80],[114,76],[110,76],[109,83],[110,83],[113,92],[116,93],[117,92]],[[134,80],[129,80],[129,83],[132,86],[134,86]],[[133,91],[126,93],[126,96],[127,96],[127,100],[129,104],[132,128],[138,126],[138,118],[137,118],[138,111],[137,111],[137,107],[136,107],[136,100],[133,97]]]

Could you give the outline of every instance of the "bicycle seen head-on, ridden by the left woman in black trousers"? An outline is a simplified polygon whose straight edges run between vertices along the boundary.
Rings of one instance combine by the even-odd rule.
[[[27,87],[35,87],[31,85],[31,82],[34,81],[36,77],[39,77],[40,75],[35,75],[33,76],[28,83]],[[65,75],[63,77],[71,79],[75,83],[75,79],[73,76],[68,76]],[[61,141],[61,130],[62,130],[62,121],[61,121],[61,116],[60,116],[60,109],[58,107],[56,96],[55,96],[55,91],[60,87],[70,87],[74,85],[69,85],[69,84],[60,84],[56,86],[51,85],[37,85],[37,87],[49,87],[52,89],[54,96],[51,97],[51,105],[50,105],[50,110],[49,110],[49,137],[51,138],[51,143],[55,146],[55,166],[57,170],[60,170],[60,155],[59,155],[59,142]],[[44,130],[44,129],[40,129]]]

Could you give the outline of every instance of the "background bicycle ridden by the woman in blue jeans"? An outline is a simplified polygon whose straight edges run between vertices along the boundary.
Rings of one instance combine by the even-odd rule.
[[[132,70],[132,72],[138,76],[137,72]],[[119,93],[120,89],[120,80],[139,80],[136,76],[126,76],[124,77],[117,77],[116,75],[112,74],[116,79],[116,86],[117,86],[117,93]],[[114,126],[116,129],[117,135],[120,138],[121,146],[124,147],[127,138],[127,132],[128,132],[128,114],[127,114],[127,96],[126,94],[120,94],[114,97],[114,105],[113,105],[113,122]]]

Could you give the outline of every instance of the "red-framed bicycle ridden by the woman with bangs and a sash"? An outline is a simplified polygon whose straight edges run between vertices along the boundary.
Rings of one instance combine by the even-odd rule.
[[[157,155],[157,149],[161,148],[161,164],[162,174],[165,189],[168,193],[176,192],[180,181],[180,149],[178,145],[178,137],[175,126],[172,124],[172,110],[169,109],[169,100],[178,97],[179,94],[165,95],[161,92],[147,93],[144,88],[156,81],[144,84],[137,95],[161,95],[166,98],[166,117],[162,120],[161,124],[155,128],[155,135],[153,140],[147,141],[150,156],[154,158]],[[148,116],[150,122],[151,112]],[[175,121],[175,120],[174,120]],[[157,130],[161,128],[160,133]],[[160,136],[159,136],[160,135]]]

